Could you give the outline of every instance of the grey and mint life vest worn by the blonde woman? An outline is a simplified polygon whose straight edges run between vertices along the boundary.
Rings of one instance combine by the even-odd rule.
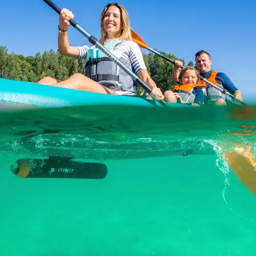
[[[122,40],[119,39],[111,40],[105,44],[104,47],[113,54],[114,48],[118,47],[118,44],[121,42]],[[119,58],[119,61],[135,73],[130,60],[121,57]],[[131,78],[131,76],[119,68],[114,61],[95,46],[88,50],[83,75],[105,87],[121,87],[124,91],[137,92],[137,83]]]

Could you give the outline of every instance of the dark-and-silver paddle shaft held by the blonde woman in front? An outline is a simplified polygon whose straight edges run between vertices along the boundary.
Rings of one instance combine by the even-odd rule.
[[[59,7],[57,7],[51,0],[44,0],[46,4],[48,4],[55,12],[60,14],[61,10]],[[123,63],[121,63],[109,50],[107,50],[105,47],[103,47],[96,37],[93,35],[90,35],[86,30],[84,30],[82,27],[80,27],[74,19],[69,20],[70,24],[78,30],[82,35],[84,35],[89,42],[97,46],[106,56],[108,56],[111,60],[113,60],[117,66],[119,66],[124,72],[126,72],[128,75],[130,75],[147,93],[151,93],[151,89],[137,76],[135,75],[130,69],[125,67]],[[170,107],[164,100],[159,100],[159,102],[166,107]]]

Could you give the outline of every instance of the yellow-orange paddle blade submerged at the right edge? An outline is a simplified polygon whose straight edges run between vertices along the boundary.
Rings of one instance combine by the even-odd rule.
[[[256,195],[256,166],[251,156],[242,156],[237,152],[225,155],[230,169],[238,179]]]

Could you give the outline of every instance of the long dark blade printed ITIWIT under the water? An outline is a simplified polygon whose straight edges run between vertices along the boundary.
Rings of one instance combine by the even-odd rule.
[[[108,173],[105,164],[77,162],[67,157],[49,159],[19,159],[11,171],[19,178],[104,179]]]

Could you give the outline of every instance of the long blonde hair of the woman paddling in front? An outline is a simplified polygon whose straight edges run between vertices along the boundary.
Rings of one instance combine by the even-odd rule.
[[[105,17],[106,11],[108,11],[108,9],[111,6],[116,6],[119,10],[120,10],[120,15],[121,15],[121,33],[119,38],[117,39],[121,39],[124,41],[130,41],[132,40],[132,36],[131,36],[131,27],[130,27],[130,21],[129,21],[129,16],[128,13],[126,12],[126,10],[124,9],[124,7],[121,4],[118,3],[114,3],[114,4],[108,4],[104,7],[101,15],[100,15],[100,29],[101,29],[101,37],[100,37],[100,44],[101,45],[105,45],[105,41],[106,41],[106,31],[104,29],[104,25],[103,25],[103,19]]]

